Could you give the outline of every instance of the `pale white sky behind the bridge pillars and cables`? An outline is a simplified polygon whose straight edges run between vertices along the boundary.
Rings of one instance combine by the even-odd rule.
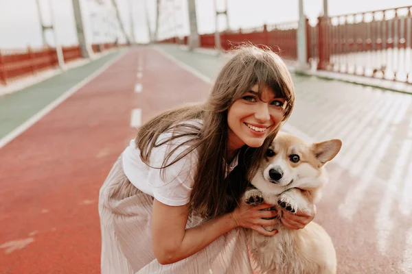
[[[69,46],[78,43],[71,0],[39,0],[43,12],[43,21],[51,22],[50,5],[52,3],[56,21],[58,42]],[[115,40],[117,23],[110,0],[81,0],[85,29],[89,42]],[[148,42],[148,25],[155,26],[156,0],[116,0],[126,32],[130,35],[130,18],[133,18],[134,34],[137,42]],[[225,0],[217,0],[218,9],[222,9]],[[162,0],[159,36],[170,34],[185,35],[189,32],[187,0]],[[229,27],[231,29],[259,27],[266,24],[297,21],[297,0],[227,0]],[[382,10],[405,5],[412,5],[412,0],[329,0],[330,16]],[[304,10],[310,21],[314,22],[321,14],[323,0],[304,0]],[[130,14],[132,16],[130,16]],[[214,32],[214,0],[196,0],[198,32]],[[146,17],[147,16],[147,17]],[[221,16],[218,25],[225,28]],[[124,40],[122,37],[121,41]],[[52,32],[47,33],[47,42],[54,45]],[[0,0],[0,49],[20,49],[41,47],[41,27],[36,8],[36,0]]]

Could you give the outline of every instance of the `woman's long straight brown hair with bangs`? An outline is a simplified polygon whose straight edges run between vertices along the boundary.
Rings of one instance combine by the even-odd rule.
[[[225,168],[229,136],[227,112],[233,102],[255,84],[259,86],[259,96],[265,87],[269,87],[275,95],[286,99],[284,119],[266,138],[262,147],[242,147],[238,166],[225,178],[225,174],[229,172],[228,167]],[[153,147],[189,136],[189,140],[181,144],[188,145],[188,148],[176,156],[174,152],[179,147],[175,147],[165,155],[161,168],[174,164],[198,149],[198,163],[190,197],[191,209],[207,218],[230,212],[239,203],[249,179],[257,172],[258,160],[264,157],[268,145],[290,116],[295,103],[294,89],[290,73],[276,53],[267,47],[240,45],[231,51],[231,58],[218,74],[205,103],[163,112],[139,128],[136,145],[141,159],[150,164],[148,159]],[[191,119],[201,119],[203,126],[184,123]],[[157,143],[157,138],[166,130],[172,130],[174,134],[169,140]],[[172,155],[174,159],[170,161]]]

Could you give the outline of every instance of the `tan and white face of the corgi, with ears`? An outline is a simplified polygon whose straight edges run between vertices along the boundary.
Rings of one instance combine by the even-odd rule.
[[[279,132],[251,184],[268,195],[278,195],[289,188],[320,188],[327,182],[323,166],[339,153],[341,146],[337,139],[307,144]]]

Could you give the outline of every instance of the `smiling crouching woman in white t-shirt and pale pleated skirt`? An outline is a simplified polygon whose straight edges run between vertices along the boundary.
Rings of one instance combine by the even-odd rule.
[[[100,190],[102,273],[251,273],[243,228],[273,236],[262,225],[276,212],[240,197],[294,101],[279,56],[243,45],[205,103],[140,127]],[[281,221],[299,229],[313,218]]]

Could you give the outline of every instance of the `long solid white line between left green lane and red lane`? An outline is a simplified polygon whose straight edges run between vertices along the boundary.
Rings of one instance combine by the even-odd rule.
[[[108,69],[109,66],[111,66],[112,64],[117,62],[117,60],[119,60],[120,58],[122,58],[123,55],[126,54],[126,52],[127,51],[125,51],[124,53],[119,54],[115,59],[113,59],[109,62],[106,62],[106,64],[104,64],[104,66],[102,66],[100,69],[98,69],[97,71],[95,71],[94,73],[89,75],[88,77],[84,78],[82,80],[82,82],[76,84],[76,86],[73,86],[72,88],[67,90],[65,93],[60,95],[60,97],[58,97],[56,100],[52,101],[52,103],[49,103],[49,105],[45,106],[45,108],[43,108],[43,110],[41,110],[40,112],[37,112],[34,116],[30,117],[30,119],[25,121],[25,123],[19,125],[19,127],[16,127],[16,129],[14,129],[12,132],[10,132],[9,134],[7,134],[3,138],[1,138],[1,140],[0,140],[0,149],[2,147],[4,147],[5,145],[7,145],[8,142],[10,142],[14,138],[19,136],[23,132],[25,132],[25,130],[27,130],[29,127],[34,125],[37,121],[42,119],[43,116],[45,116],[47,113],[54,110],[54,108],[56,108],[58,105],[60,105],[60,103],[62,103],[67,98],[69,98],[71,95],[73,95],[74,92],[80,90],[80,88],[85,86],[87,83],[91,82],[91,80],[93,80],[95,77],[100,75],[100,73],[103,73],[104,71],[106,71],[106,69]]]

